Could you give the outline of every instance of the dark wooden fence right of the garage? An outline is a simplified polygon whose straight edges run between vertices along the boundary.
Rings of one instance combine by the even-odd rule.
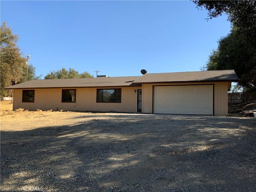
[[[241,103],[256,103],[256,92],[228,93],[228,106]]]

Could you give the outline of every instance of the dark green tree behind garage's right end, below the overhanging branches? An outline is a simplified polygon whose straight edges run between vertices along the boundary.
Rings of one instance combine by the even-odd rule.
[[[218,41],[205,68],[207,70],[234,69],[245,90],[256,90],[256,46],[233,28]]]

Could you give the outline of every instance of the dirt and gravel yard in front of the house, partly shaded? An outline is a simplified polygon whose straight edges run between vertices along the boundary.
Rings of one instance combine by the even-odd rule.
[[[5,110],[3,192],[256,191],[256,118]]]

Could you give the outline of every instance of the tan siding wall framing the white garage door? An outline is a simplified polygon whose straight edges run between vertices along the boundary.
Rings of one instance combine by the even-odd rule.
[[[228,89],[230,82],[205,82],[205,83],[162,83],[142,85],[142,112],[153,112],[153,86],[164,85],[214,85],[214,115],[228,114]]]

